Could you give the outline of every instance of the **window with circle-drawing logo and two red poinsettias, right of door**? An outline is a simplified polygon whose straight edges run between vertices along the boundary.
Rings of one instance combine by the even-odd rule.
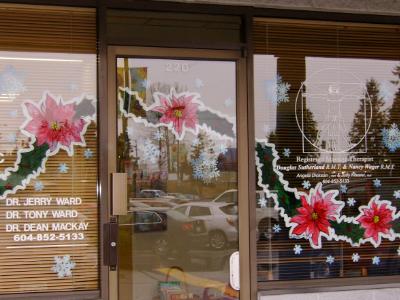
[[[254,38],[258,282],[399,275],[399,28]]]

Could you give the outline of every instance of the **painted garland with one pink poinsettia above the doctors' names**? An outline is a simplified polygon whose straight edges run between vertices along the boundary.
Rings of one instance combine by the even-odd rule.
[[[61,149],[69,156],[74,146],[86,146],[84,135],[94,121],[96,108],[87,96],[65,102],[45,92],[39,103],[22,105],[26,121],[21,132],[30,138],[29,146],[17,152],[13,167],[0,174],[0,198],[26,188],[32,178],[45,171],[47,159]]]

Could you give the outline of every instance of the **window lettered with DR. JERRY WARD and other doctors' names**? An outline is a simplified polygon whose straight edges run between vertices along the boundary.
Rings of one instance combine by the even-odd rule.
[[[94,11],[0,15],[0,295],[97,290]]]

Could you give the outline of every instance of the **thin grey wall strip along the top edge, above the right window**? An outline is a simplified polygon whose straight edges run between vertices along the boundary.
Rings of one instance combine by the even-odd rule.
[[[159,0],[171,1],[171,0]],[[175,0],[187,3],[246,5],[282,9],[400,15],[399,0]]]

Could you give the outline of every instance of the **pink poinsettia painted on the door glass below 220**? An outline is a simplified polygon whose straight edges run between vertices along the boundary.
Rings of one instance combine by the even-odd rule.
[[[152,110],[162,114],[159,120],[160,123],[172,124],[173,129],[180,138],[182,138],[185,128],[196,131],[199,104],[195,101],[199,96],[198,94],[176,94],[172,89],[169,95],[155,93],[154,96],[158,98],[159,105],[153,107]]]

